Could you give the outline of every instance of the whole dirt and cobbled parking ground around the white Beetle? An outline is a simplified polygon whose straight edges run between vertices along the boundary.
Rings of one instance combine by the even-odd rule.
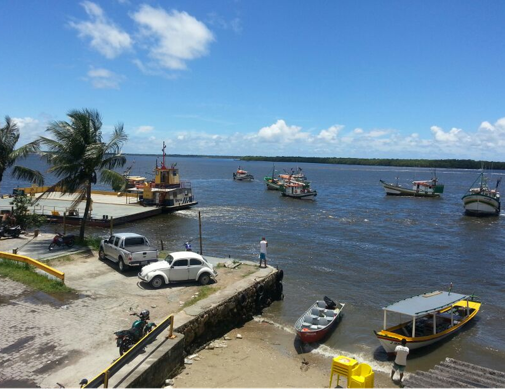
[[[131,326],[131,312],[148,309],[151,321],[160,322],[180,311],[180,302],[201,288],[196,282],[185,282],[152,290],[139,282],[137,270],[122,274],[94,252],[65,256],[50,265],[65,272],[65,283],[77,294],[49,296],[0,279],[4,335],[0,387],[56,387],[57,382],[75,387],[81,378],[93,378],[119,357],[114,331]],[[220,268],[210,288],[225,288],[251,270],[246,265],[237,270]],[[15,331],[9,330],[13,323]]]

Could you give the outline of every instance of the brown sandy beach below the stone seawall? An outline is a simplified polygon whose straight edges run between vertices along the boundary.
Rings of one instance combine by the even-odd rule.
[[[240,334],[242,339],[238,339]],[[246,323],[202,350],[174,378],[174,387],[328,387],[332,359],[302,352],[294,333],[261,318]],[[221,347],[224,345],[224,347]],[[336,376],[333,387],[337,387]],[[346,387],[345,379],[338,387]],[[375,387],[398,387],[375,373]]]

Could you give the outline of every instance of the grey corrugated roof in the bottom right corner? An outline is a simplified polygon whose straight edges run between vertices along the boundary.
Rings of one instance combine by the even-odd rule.
[[[416,372],[405,377],[406,388],[505,388],[505,373],[472,363],[445,358],[428,372]]]

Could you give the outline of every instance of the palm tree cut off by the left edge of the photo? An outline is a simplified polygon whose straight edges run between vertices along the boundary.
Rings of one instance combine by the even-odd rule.
[[[0,127],[0,182],[4,178],[6,169],[10,168],[17,159],[25,158],[29,153],[39,150],[39,142],[35,140],[16,149],[17,141],[20,139],[20,129],[9,116],[5,117],[5,126]],[[37,171],[23,166],[14,165],[12,175],[22,180],[30,180],[37,185],[44,185],[43,175]]]

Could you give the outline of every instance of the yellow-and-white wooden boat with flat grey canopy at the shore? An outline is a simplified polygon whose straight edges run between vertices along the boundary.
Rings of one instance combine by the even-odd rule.
[[[481,303],[476,300],[475,296],[441,291],[399,300],[382,308],[383,330],[374,333],[389,355],[402,339],[410,350],[419,349],[461,330],[479,312]],[[391,313],[395,318],[399,315],[400,324],[387,327],[387,314]]]

